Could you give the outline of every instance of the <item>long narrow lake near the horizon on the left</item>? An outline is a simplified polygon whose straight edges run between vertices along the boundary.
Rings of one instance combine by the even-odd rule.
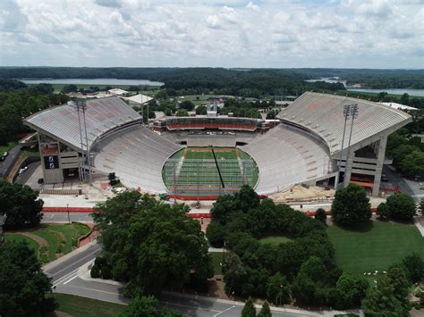
[[[145,79],[18,79],[25,84],[62,84],[93,86],[162,86],[163,82]]]

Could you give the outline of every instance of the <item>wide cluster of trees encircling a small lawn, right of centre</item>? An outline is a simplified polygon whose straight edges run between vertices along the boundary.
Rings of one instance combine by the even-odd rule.
[[[326,280],[319,287],[325,285],[328,293],[334,288],[340,271],[322,222],[287,205],[276,205],[270,199],[260,201],[248,186],[234,196],[219,197],[211,212],[209,242],[222,246],[225,241],[231,251],[225,257],[223,268],[227,293],[265,296],[275,304],[289,303],[289,283],[311,256],[316,257],[326,271]],[[259,239],[267,235],[283,235],[292,241],[260,243]],[[331,300],[325,296],[320,303],[328,304]],[[315,297],[301,300],[302,304],[315,302]]]

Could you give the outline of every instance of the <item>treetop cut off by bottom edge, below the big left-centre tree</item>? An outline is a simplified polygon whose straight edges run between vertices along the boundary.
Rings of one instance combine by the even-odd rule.
[[[141,296],[131,300],[123,313],[116,317],[182,317],[182,313],[159,308],[159,302],[153,296]]]

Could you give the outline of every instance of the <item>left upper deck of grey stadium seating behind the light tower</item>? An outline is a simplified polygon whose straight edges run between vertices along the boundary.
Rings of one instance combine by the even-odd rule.
[[[116,96],[87,100],[86,122],[89,146],[111,129],[141,121],[139,113]],[[80,121],[72,102],[35,113],[24,120],[31,129],[59,139],[75,150],[81,150]],[[82,124],[82,113],[81,113]],[[82,125],[83,127],[83,125]],[[82,128],[84,129],[84,128]],[[85,133],[82,134],[85,147]]]

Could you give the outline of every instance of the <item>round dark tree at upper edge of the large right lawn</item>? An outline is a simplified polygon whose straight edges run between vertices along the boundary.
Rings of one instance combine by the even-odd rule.
[[[369,221],[371,204],[365,189],[356,184],[335,192],[335,200],[331,205],[333,220],[343,226],[355,226]]]

